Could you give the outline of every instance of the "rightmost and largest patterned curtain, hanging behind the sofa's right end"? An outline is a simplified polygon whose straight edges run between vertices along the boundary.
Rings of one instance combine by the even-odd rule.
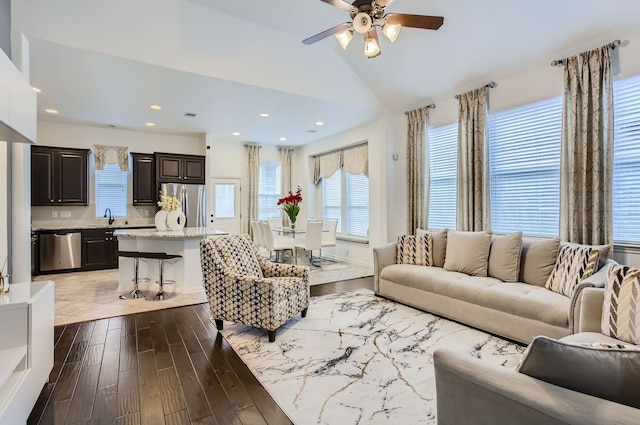
[[[560,174],[560,237],[613,243],[611,45],[566,59]]]

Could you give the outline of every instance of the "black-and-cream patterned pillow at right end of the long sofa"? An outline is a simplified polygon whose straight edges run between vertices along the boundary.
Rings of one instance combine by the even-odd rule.
[[[596,271],[599,257],[600,251],[588,245],[563,246],[544,287],[571,297],[578,283]]]

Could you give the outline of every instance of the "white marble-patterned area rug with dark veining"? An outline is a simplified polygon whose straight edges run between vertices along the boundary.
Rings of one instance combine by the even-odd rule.
[[[504,367],[525,349],[368,289],[312,298],[274,343],[228,322],[222,334],[297,425],[436,424],[436,348]]]

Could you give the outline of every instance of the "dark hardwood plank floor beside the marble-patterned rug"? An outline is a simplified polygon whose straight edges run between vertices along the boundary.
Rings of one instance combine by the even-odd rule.
[[[311,296],[373,289],[373,277]],[[266,332],[265,332],[265,338]],[[197,304],[55,328],[54,366],[29,425],[291,424]]]

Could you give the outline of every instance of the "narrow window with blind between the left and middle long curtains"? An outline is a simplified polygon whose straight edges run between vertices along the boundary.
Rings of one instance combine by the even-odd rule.
[[[429,228],[456,228],[458,124],[429,129]]]

